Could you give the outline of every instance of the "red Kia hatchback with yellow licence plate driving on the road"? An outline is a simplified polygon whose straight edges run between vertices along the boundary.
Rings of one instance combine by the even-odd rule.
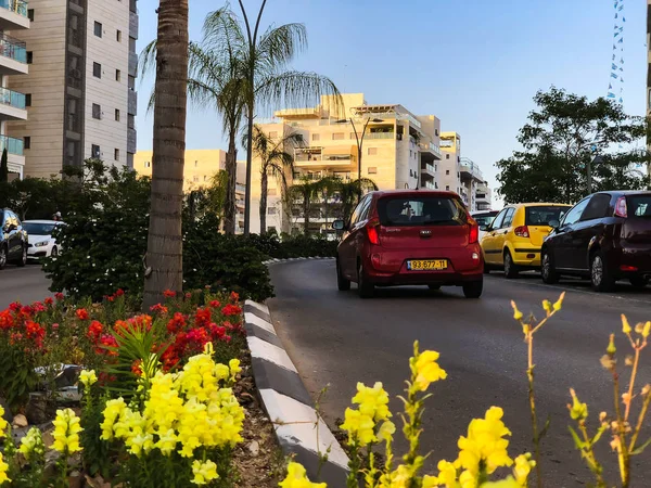
[[[371,192],[361,198],[337,247],[339,290],[357,283],[359,296],[375,286],[462,286],[468,298],[483,290],[480,228],[456,193],[427,190]]]

